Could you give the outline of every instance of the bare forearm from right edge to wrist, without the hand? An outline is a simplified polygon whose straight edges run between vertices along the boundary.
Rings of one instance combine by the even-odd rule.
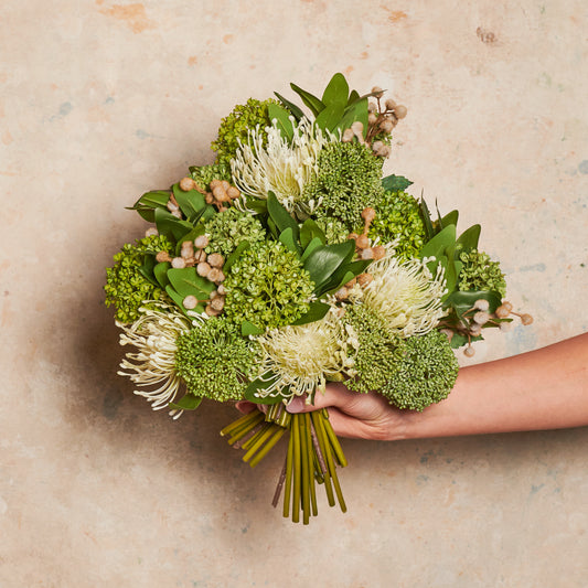
[[[407,415],[404,438],[588,425],[588,333],[464,367],[446,400]]]

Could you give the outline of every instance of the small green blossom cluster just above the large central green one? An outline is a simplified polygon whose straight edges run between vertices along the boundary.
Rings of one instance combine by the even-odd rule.
[[[204,231],[210,238],[210,244],[204,250],[223,255],[232,254],[242,240],[255,245],[266,238],[261,223],[254,215],[240,212],[234,206],[215,214],[204,225]]]

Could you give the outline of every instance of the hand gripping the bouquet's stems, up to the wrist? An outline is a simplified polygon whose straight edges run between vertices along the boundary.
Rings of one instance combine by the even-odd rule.
[[[248,402],[237,403],[242,413],[249,413],[260,406],[263,405]],[[286,409],[289,413],[310,413],[321,408],[329,409],[335,434],[352,439],[404,439],[411,415],[410,410],[394,408],[379,394],[351,392],[339,383],[328,384],[324,394],[317,393],[313,405],[307,405],[303,397],[297,397]]]

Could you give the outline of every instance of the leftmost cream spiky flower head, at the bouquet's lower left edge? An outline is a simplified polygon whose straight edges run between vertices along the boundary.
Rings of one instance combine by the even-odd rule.
[[[133,345],[137,353],[127,353],[120,362],[118,375],[130,377],[140,388],[135,394],[152,403],[153,410],[165,408],[175,398],[182,379],[175,373],[175,341],[188,331],[191,321],[174,307],[156,302],[156,309],[142,308],[142,314],[132,324],[117,325],[122,329],[121,345]],[[204,320],[204,319],[201,319]],[[178,418],[182,411],[171,410]]]

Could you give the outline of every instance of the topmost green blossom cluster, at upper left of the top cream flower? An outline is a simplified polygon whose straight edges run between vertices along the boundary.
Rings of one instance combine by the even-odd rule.
[[[227,117],[223,118],[218,137],[211,145],[211,149],[216,151],[216,163],[231,167],[231,160],[239,146],[238,141],[247,143],[248,130],[255,129],[257,125],[264,138],[264,146],[266,145],[267,133],[264,129],[271,125],[267,111],[271,103],[277,104],[277,100],[269,98],[261,101],[249,98],[246,104],[238,104]]]

